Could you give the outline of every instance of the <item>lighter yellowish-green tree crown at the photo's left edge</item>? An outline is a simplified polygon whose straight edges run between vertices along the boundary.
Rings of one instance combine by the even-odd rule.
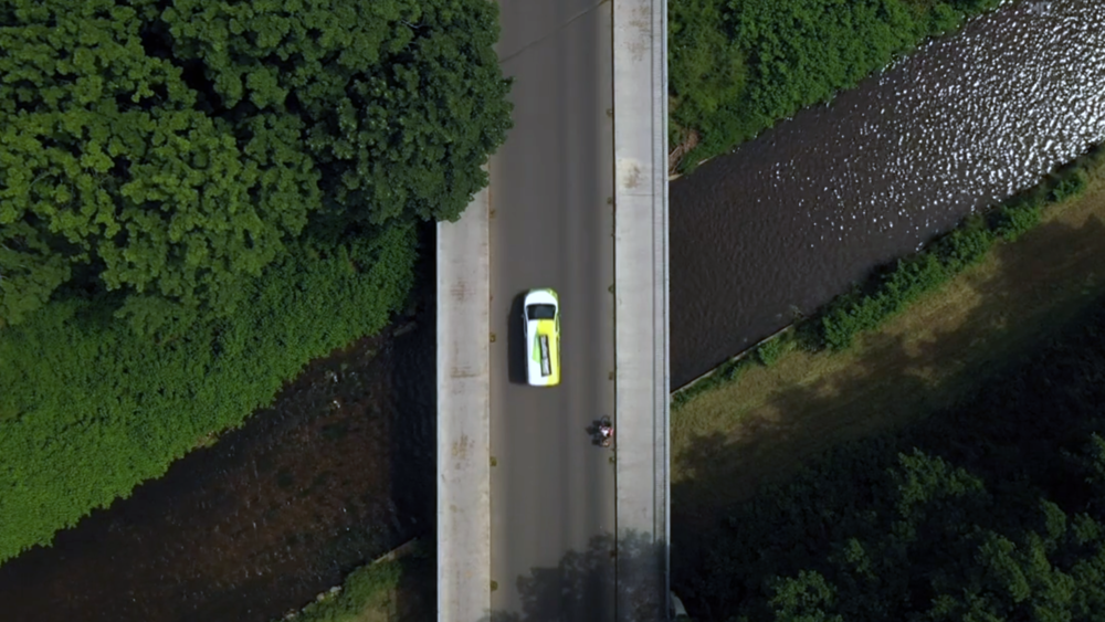
[[[265,135],[242,148],[194,109],[181,70],[146,53],[135,8],[21,4],[0,29],[0,316],[22,319],[75,264],[106,289],[232,307],[306,223],[311,159],[257,154]],[[269,133],[290,141],[292,122]]]

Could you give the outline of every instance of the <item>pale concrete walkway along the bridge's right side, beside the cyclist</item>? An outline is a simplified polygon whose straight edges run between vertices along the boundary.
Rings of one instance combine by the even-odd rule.
[[[618,537],[660,558],[618,559],[618,620],[669,600],[667,3],[613,0],[614,360]]]

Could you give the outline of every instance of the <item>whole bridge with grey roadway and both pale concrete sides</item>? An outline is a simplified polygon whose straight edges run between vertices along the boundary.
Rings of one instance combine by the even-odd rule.
[[[499,9],[515,126],[438,226],[438,619],[665,620],[666,2]],[[560,296],[555,388],[520,369],[533,287]]]

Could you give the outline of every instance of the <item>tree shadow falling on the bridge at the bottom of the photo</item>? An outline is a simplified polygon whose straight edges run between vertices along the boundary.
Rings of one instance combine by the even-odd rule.
[[[480,622],[561,622],[564,620],[665,620],[666,546],[645,534],[592,536],[587,548],[570,550],[556,568],[533,568],[514,586],[520,611],[493,611]]]

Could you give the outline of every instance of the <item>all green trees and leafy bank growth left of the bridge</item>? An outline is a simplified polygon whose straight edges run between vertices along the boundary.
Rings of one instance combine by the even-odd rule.
[[[0,29],[0,562],[380,330],[417,224],[460,214],[511,124],[485,0],[25,4]]]

